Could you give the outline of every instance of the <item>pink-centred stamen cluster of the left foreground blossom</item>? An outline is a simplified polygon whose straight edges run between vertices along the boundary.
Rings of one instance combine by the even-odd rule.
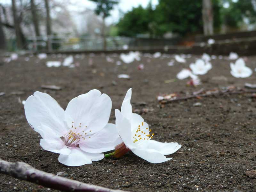
[[[82,126],[80,123],[78,127],[74,126],[74,122],[72,122],[72,127],[69,128],[68,132],[64,136],[64,142],[67,147],[76,147],[80,143],[84,142],[86,139],[90,139],[88,133],[92,132],[92,130],[88,130],[87,126]]]

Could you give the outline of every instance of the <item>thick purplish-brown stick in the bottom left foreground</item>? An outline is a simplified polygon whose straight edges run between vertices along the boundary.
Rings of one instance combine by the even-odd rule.
[[[122,190],[103,188],[95,185],[85,184],[76,180],[56,176],[54,174],[46,173],[35,169],[24,162],[11,163],[0,159],[0,173],[61,191],[124,192]]]

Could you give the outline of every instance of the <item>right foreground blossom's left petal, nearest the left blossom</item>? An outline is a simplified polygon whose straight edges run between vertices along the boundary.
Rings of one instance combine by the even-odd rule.
[[[132,131],[131,131],[131,123],[128,119],[126,119],[122,113],[116,109],[116,129],[119,133],[121,139],[124,141],[124,144],[128,148],[132,148],[133,141],[132,141]]]

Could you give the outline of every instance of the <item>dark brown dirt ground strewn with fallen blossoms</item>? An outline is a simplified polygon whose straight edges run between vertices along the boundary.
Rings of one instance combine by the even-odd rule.
[[[253,69],[251,77],[237,79],[230,74],[227,59],[212,60],[212,69],[200,76],[203,84],[197,88],[186,87],[187,80],[164,83],[175,78],[189,63],[200,56],[192,55],[185,64],[171,58],[141,57],[141,61],[117,66],[119,56],[76,58],[75,68],[47,68],[46,60],[20,56],[10,63],[0,58],[0,157],[6,161],[23,161],[36,169],[72,178],[89,184],[126,191],[256,191],[256,180],[245,175],[256,169],[256,99],[250,94],[205,97],[175,101],[161,108],[156,97],[163,93],[198,91],[228,85],[244,87],[244,83],[256,83],[254,68],[256,57],[247,57],[246,65]],[[89,66],[89,58],[93,65]],[[145,69],[138,70],[144,63]],[[128,74],[130,80],[119,79],[119,74]],[[41,85],[57,85],[62,90],[44,90]],[[46,91],[65,109],[68,101],[91,89],[99,89],[110,96],[113,102],[110,122],[115,122],[114,109],[121,108],[126,91],[132,87],[133,109],[150,109],[142,115],[155,133],[154,140],[178,142],[180,150],[170,155],[172,160],[150,164],[131,152],[123,158],[104,158],[78,167],[68,167],[58,162],[58,154],[43,150],[39,145],[40,135],[33,131],[25,118],[26,100],[35,91]],[[20,91],[21,93],[12,93]],[[23,92],[23,93],[22,93]],[[201,102],[199,107],[194,103]],[[1,175],[0,191],[56,191],[26,181]]]

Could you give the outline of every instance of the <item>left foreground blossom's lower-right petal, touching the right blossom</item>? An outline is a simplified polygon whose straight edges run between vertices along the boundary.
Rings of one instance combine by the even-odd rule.
[[[116,145],[122,143],[115,124],[107,124],[102,130],[84,140],[79,147],[89,153],[103,153],[114,150]]]

